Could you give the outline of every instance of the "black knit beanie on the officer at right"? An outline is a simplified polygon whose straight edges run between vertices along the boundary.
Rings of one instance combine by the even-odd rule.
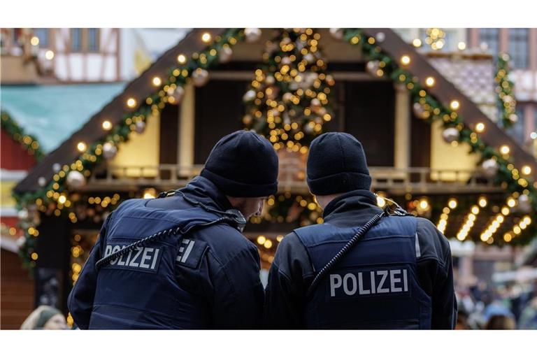
[[[308,186],[315,195],[370,189],[371,176],[361,143],[350,134],[330,132],[311,142]]]

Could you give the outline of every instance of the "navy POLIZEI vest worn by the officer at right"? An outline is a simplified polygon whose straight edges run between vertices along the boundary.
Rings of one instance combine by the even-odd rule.
[[[357,232],[326,222],[294,230],[320,271]],[[430,329],[431,298],[417,279],[415,217],[385,217],[327,273],[308,298],[313,329]]]

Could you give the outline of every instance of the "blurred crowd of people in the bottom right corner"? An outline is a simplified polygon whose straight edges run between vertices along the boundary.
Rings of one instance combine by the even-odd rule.
[[[456,329],[537,329],[537,280],[457,290]]]

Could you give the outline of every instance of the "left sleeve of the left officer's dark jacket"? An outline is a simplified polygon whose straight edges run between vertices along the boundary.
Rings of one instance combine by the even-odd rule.
[[[88,329],[90,327],[90,317],[92,315],[93,299],[97,282],[95,264],[102,258],[101,245],[106,242],[106,229],[110,217],[111,215],[108,215],[106,218],[103,227],[101,228],[101,232],[99,233],[99,238],[97,238],[97,241],[90,252],[90,257],[88,257],[82,272],[78,276],[76,285],[71,290],[67,299],[69,312],[80,329]]]

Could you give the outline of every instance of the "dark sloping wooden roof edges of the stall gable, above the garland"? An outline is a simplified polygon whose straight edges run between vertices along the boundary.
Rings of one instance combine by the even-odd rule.
[[[76,143],[86,141],[92,143],[105,135],[101,128],[101,121],[108,119],[114,124],[123,120],[125,110],[125,102],[129,97],[143,99],[148,96],[154,88],[151,86],[151,78],[153,76],[162,76],[162,73],[167,71],[173,64],[176,64],[176,57],[179,53],[199,52],[206,48],[206,44],[201,41],[201,34],[205,31],[210,31],[213,36],[220,35],[226,29],[194,29],[185,36],[176,46],[166,51],[164,55],[159,57],[148,70],[134,79],[125,87],[124,91],[110,101],[106,106],[103,106],[99,112],[93,115],[90,120],[76,133],[60,145],[54,152],[51,152],[45,157],[34,169],[22,180],[16,187],[16,192],[31,192],[38,189],[38,178],[51,178],[54,174],[52,166],[55,163],[71,164],[73,159],[78,157],[79,153],[76,150]],[[383,33],[385,36],[380,46],[395,60],[398,60],[403,55],[409,55],[412,61],[406,69],[418,76],[420,80],[424,80],[428,76],[436,78],[436,85],[429,90],[443,103],[450,103],[453,99],[457,99],[460,103],[460,108],[457,111],[464,118],[465,124],[473,128],[478,122],[485,123],[487,130],[480,134],[485,142],[496,148],[501,145],[509,145],[513,155],[513,163],[517,167],[528,165],[532,169],[532,173],[537,171],[537,162],[528,152],[526,152],[513,138],[508,136],[503,129],[499,128],[494,122],[489,120],[485,113],[471,101],[467,96],[461,93],[457,88],[446,80],[441,73],[431,65],[426,57],[421,55],[410,44],[401,39],[392,29],[364,29],[369,36],[377,36]]]

